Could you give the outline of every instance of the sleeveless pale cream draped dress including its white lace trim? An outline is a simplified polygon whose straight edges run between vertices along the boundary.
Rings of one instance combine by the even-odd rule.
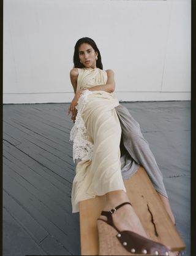
[[[77,91],[107,82],[107,72],[96,68],[78,69]],[[74,141],[74,160],[81,159],[75,169],[72,185],[72,212],[78,202],[124,190],[121,174],[121,125],[115,107],[115,93],[86,90],[78,101],[78,114],[70,133]]]

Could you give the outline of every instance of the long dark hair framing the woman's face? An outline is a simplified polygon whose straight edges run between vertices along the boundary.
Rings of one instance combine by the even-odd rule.
[[[97,66],[97,68],[103,69],[102,57],[100,56],[99,49],[97,48],[96,43],[89,37],[82,37],[75,44],[74,68],[85,68],[85,66],[82,63],[80,63],[80,58],[79,58],[79,53],[78,53],[78,48],[80,47],[81,44],[84,44],[84,43],[91,45],[92,48],[94,48],[95,52],[98,53],[98,56],[97,56],[98,59],[97,59],[97,62],[96,62],[96,66]]]

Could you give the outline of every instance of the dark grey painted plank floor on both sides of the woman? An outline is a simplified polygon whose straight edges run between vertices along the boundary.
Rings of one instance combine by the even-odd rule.
[[[164,176],[190,256],[190,101],[121,103],[140,123]],[[4,105],[3,256],[80,255],[72,214],[69,104]]]

